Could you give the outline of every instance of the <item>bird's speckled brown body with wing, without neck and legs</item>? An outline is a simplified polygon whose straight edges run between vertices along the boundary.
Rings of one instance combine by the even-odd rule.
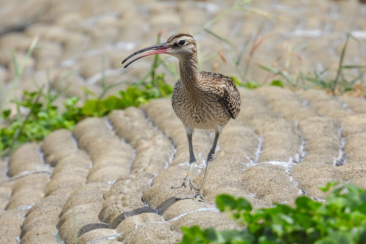
[[[195,86],[180,78],[174,86],[172,106],[185,127],[217,129],[235,119],[240,111],[240,95],[227,76],[201,71]]]

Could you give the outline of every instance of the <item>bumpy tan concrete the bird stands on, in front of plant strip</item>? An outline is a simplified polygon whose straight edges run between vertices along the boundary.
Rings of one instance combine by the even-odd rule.
[[[231,193],[260,208],[293,205],[299,195],[321,201],[318,186],[328,181],[366,188],[365,100],[275,86],[240,93],[242,110],[224,128],[210,171],[209,201]],[[170,188],[187,172],[186,140],[170,99],[158,99],[21,146],[0,162],[1,240],[174,243],[182,225],[238,228],[214,204],[175,201],[193,193]],[[212,141],[209,131],[194,134],[196,184]]]

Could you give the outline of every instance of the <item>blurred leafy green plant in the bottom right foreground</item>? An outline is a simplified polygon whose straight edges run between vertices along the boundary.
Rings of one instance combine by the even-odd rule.
[[[330,182],[322,191],[334,188]],[[346,244],[366,241],[366,190],[344,183],[329,193],[324,203],[307,196],[296,198],[296,207],[275,204],[253,210],[242,197],[219,195],[216,204],[242,230],[216,231],[198,226],[182,227],[181,243],[316,243]]]

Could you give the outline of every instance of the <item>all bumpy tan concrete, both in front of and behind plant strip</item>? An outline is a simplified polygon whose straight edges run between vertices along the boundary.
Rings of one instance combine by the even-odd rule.
[[[160,30],[165,29],[164,40],[177,32],[193,34],[234,4],[234,0],[2,0],[0,81],[6,91],[2,94],[12,99],[13,92],[19,97],[22,90],[35,90],[34,81],[41,86],[51,80],[53,91],[83,100],[85,88],[101,94],[103,69],[107,84],[123,81],[106,95],[114,94],[146,74],[152,58],[129,69],[122,69],[121,61],[153,45]],[[258,29],[259,37],[268,38],[255,52],[248,78],[259,83],[269,76],[257,64],[270,66],[292,51],[301,60],[291,56],[279,65],[305,73],[327,68],[334,75],[344,33],[366,40],[366,5],[356,0],[262,0],[254,6],[288,19],[231,12],[209,28],[235,47],[206,32],[195,35],[201,60],[218,51],[226,59],[214,56],[201,63],[202,70],[238,76],[232,60],[247,39],[250,47]],[[36,36],[41,48],[34,50],[19,81],[13,83],[11,50],[20,64]],[[248,54],[246,48],[244,61]],[[344,64],[364,64],[365,54],[351,40]],[[171,60],[176,67],[176,60]],[[166,82],[175,83],[165,69],[158,72],[166,74]],[[220,136],[204,192],[210,202],[217,194],[232,193],[260,208],[273,202],[293,205],[302,194],[321,201],[326,196],[318,186],[328,181],[366,188],[365,100],[274,86],[240,93],[241,112]],[[212,132],[194,134],[195,184],[202,180],[212,141]],[[105,118],[87,118],[73,131],[57,130],[41,143],[27,143],[0,159],[0,242],[174,243],[182,237],[182,225],[238,228],[214,204],[175,202],[176,197],[194,193],[170,189],[187,169],[186,134],[169,99],[113,111]]]

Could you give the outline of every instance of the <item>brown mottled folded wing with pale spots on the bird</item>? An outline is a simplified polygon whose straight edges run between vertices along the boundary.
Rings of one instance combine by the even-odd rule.
[[[240,111],[240,94],[234,81],[219,73],[202,71],[201,75],[205,76],[205,80],[207,80],[206,85],[209,85],[212,88],[210,89],[210,92],[219,97],[219,101],[227,114],[232,119],[238,117]]]

